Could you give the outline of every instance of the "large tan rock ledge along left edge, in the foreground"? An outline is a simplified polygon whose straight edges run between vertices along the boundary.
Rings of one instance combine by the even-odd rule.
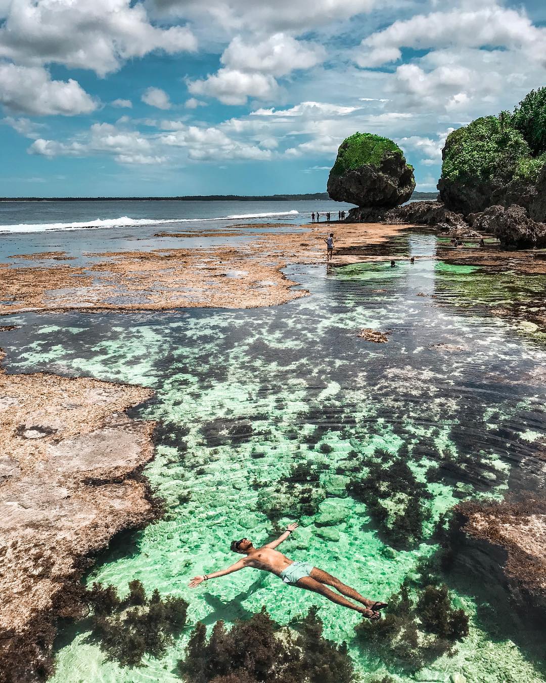
[[[0,370],[1,682],[51,672],[55,620],[80,615],[89,558],[156,518],[140,475],[155,423],[124,413],[152,393]]]

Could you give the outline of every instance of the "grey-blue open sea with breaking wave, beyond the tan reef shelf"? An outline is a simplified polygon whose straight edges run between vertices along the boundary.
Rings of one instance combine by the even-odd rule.
[[[241,225],[244,232],[246,225],[263,221],[287,227],[253,227],[252,232],[293,231],[294,224],[311,221],[311,212],[319,211],[324,223],[326,211],[336,219],[338,211],[351,206],[338,201],[0,201],[0,263],[35,266],[33,260],[10,256],[44,251],[66,251],[74,259],[70,265],[79,266],[96,262],[98,257],[89,254],[103,251],[233,246],[245,238],[203,231],[229,232]],[[186,236],[160,238],[158,232]]]

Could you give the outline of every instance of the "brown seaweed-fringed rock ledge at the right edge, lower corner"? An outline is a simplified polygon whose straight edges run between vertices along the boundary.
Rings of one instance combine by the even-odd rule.
[[[506,550],[504,573],[533,596],[546,598],[546,501],[468,501],[456,507],[463,531]]]

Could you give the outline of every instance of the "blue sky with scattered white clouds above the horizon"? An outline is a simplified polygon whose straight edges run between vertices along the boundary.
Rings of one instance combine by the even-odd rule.
[[[3,196],[325,191],[344,137],[435,189],[447,133],[546,85],[546,3],[0,0]]]

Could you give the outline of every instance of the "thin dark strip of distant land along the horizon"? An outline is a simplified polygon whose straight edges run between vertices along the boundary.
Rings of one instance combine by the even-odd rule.
[[[437,199],[437,192],[414,192],[412,199]],[[0,197],[0,201],[332,201],[327,192],[307,195],[187,195],[185,197]]]

